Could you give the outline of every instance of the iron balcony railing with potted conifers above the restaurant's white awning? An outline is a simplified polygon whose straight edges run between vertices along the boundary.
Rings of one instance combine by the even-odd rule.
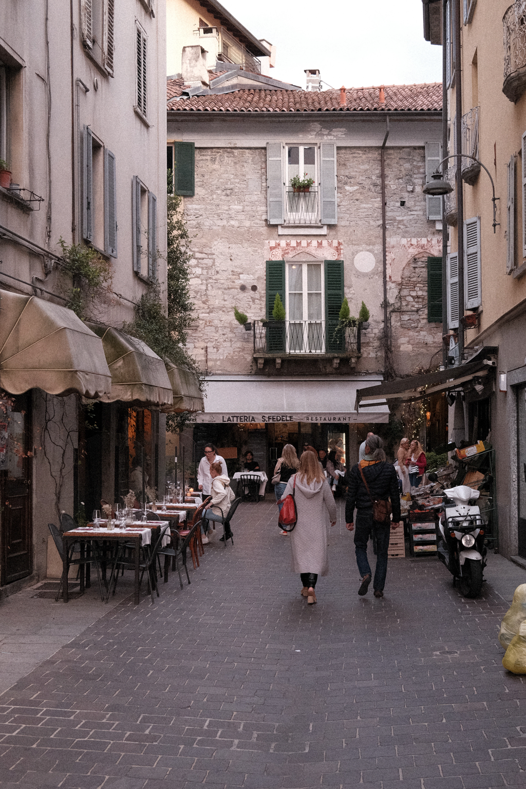
[[[361,326],[338,328],[338,320],[255,320],[254,354],[283,356],[357,356],[361,352]]]

